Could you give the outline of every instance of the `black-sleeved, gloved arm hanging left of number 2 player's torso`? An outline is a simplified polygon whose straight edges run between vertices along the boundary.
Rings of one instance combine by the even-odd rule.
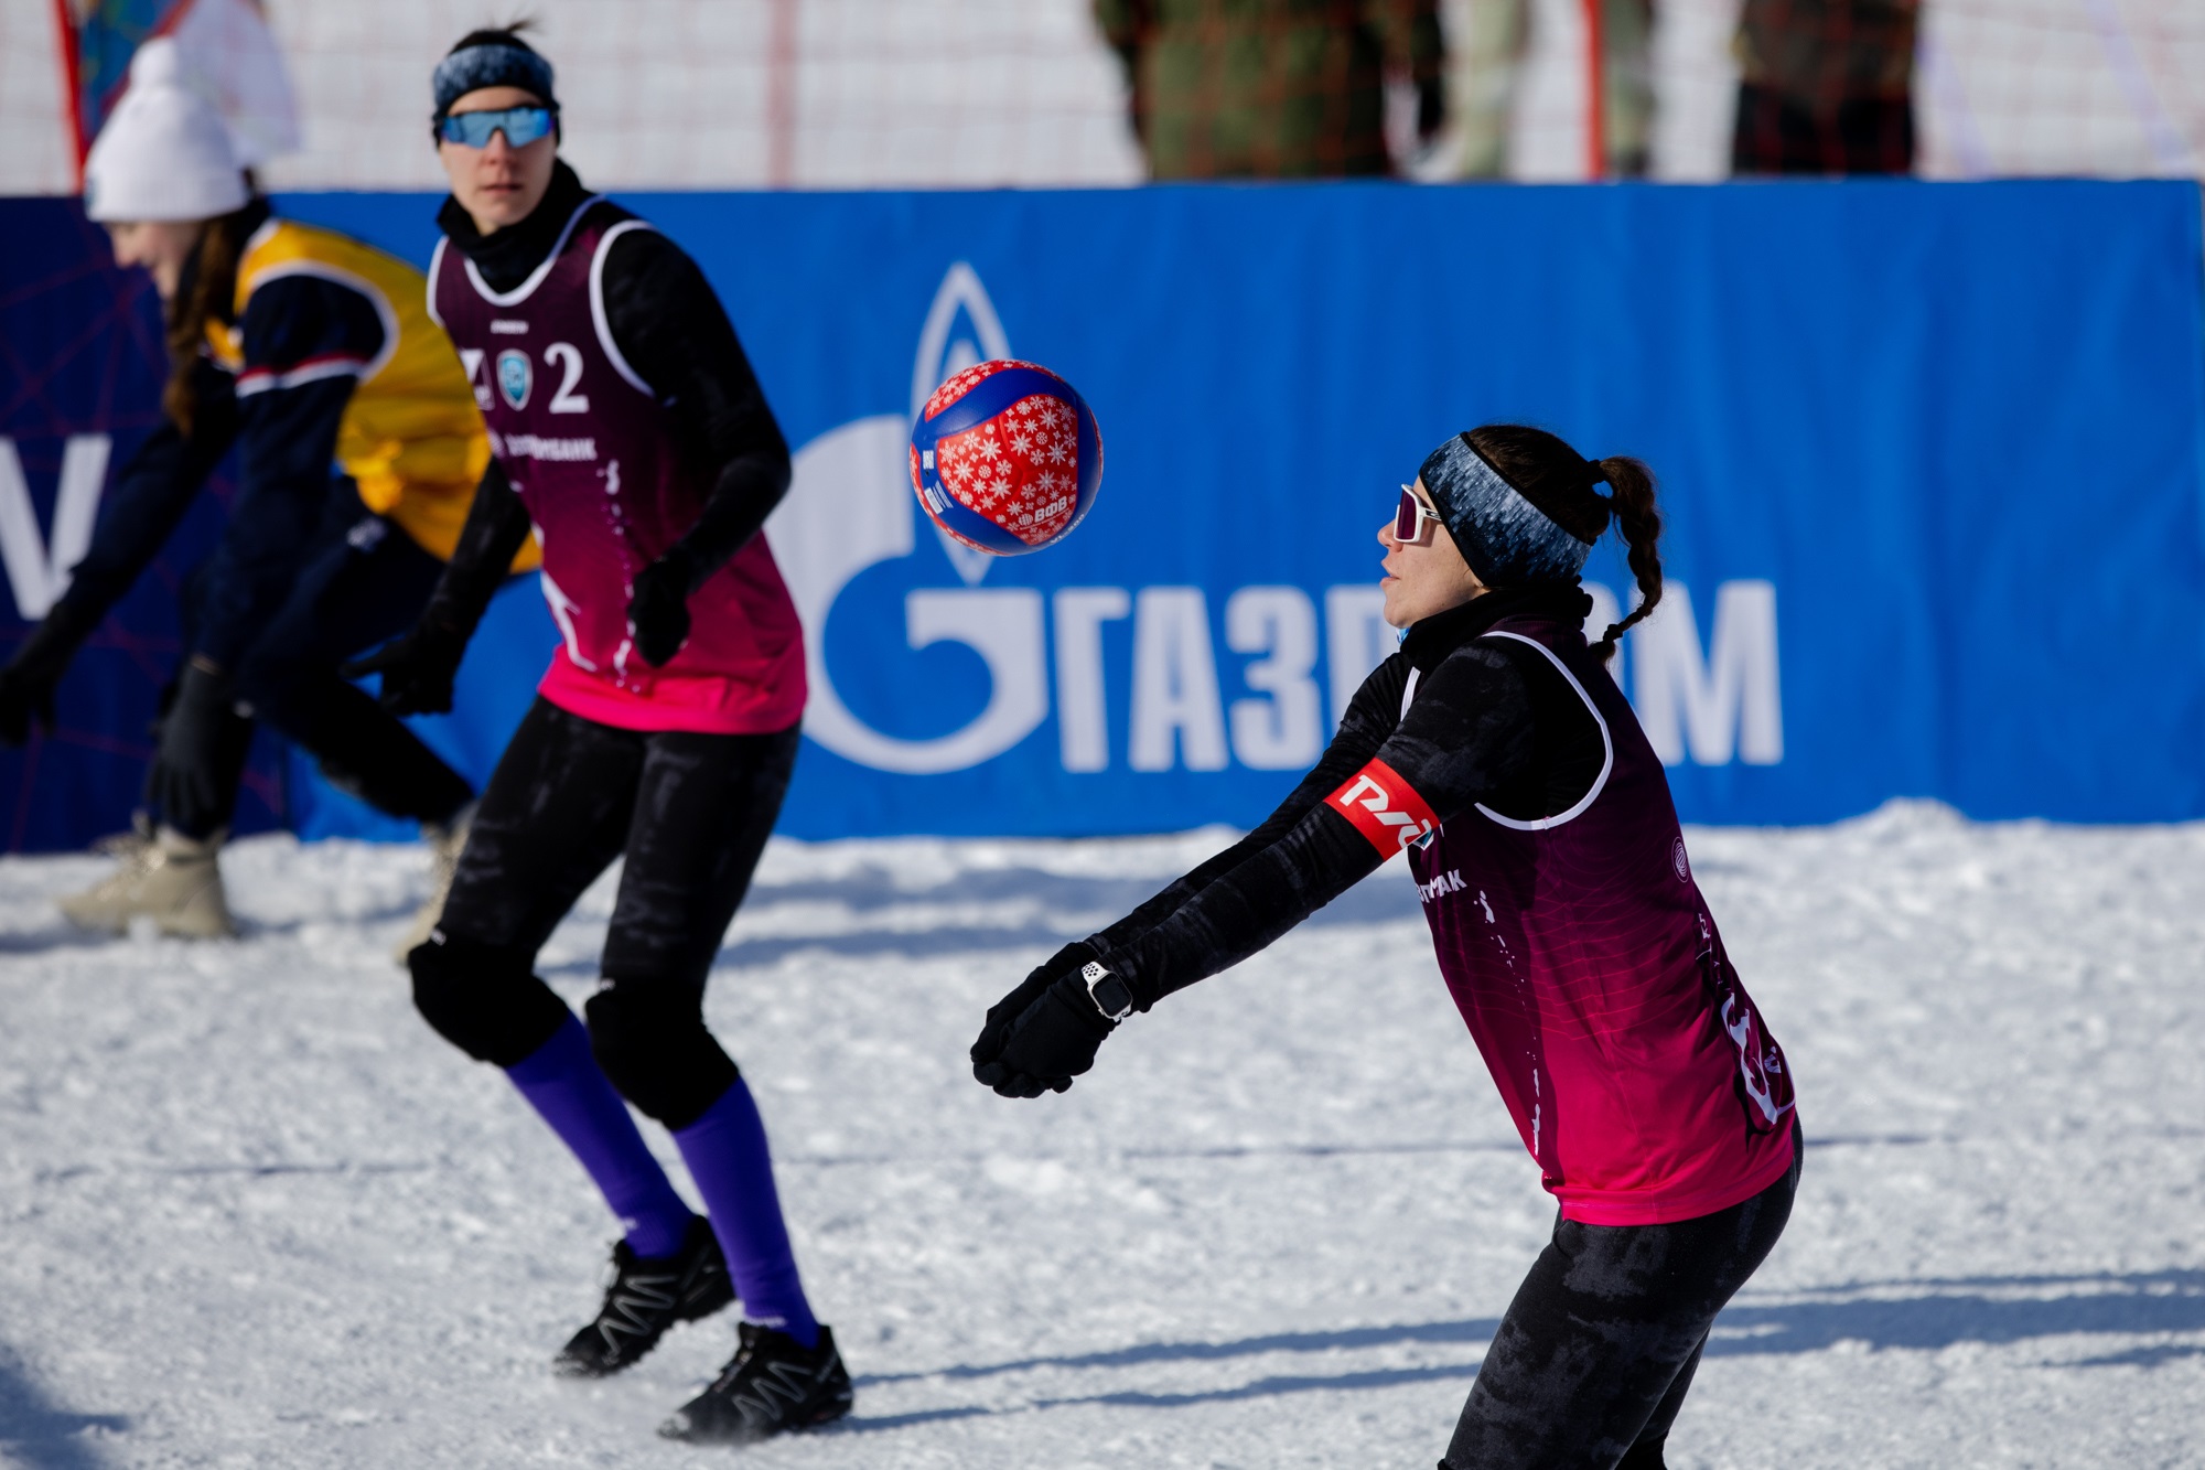
[[[461,658],[467,656],[467,640],[474,638],[490,596],[505,580],[527,539],[529,512],[505,479],[505,468],[492,459],[474,488],[467,523],[459,532],[452,561],[437,578],[437,592],[421,609],[421,620],[373,653],[344,664],[340,673],[348,680],[379,673],[381,704],[392,715],[450,711],[452,682],[459,678]]]

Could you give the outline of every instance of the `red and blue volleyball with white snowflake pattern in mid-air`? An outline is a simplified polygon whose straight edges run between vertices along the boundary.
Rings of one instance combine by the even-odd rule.
[[[911,490],[944,532],[1023,556],[1085,519],[1102,483],[1102,430],[1069,382],[1032,362],[977,362],[935,388],[911,426]]]

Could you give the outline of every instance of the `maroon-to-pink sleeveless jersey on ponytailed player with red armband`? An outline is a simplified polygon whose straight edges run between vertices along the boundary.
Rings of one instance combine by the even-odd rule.
[[[1660,759],[1579,629],[1484,636],[1561,669],[1607,761],[1566,812],[1475,806],[1409,848],[1455,1006],[1566,1218],[1665,1225],[1751,1199],[1790,1168],[1790,1068],[1691,878]]]

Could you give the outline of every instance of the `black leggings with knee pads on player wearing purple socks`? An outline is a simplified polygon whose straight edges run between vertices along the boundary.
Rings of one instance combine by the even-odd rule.
[[[591,1051],[628,1101],[688,1126],[736,1075],[703,1026],[703,982],[794,768],[794,728],[622,731],[538,697],[476,808],[437,938],[410,958],[415,1004],[481,1062],[529,1057],[567,1024],[536,951],[626,856]]]

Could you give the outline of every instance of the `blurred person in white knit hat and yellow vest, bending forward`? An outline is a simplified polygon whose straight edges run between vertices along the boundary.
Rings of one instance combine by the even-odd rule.
[[[148,42],[86,159],[86,212],[168,318],[165,422],[115,477],[66,594],[0,669],[0,737],[51,726],[71,656],[174,532],[214,466],[238,490],[183,587],[183,667],[121,865],[62,912],[123,931],[234,929],[216,852],[254,720],[340,788],[423,825],[448,874],[474,790],[337,664],[412,627],[452,556],[490,439],[426,280],[359,241],[278,219],[172,42]],[[335,468],[333,468],[335,466]],[[534,547],[523,552],[534,558]],[[518,563],[516,563],[518,569]],[[434,923],[441,892],[417,920]]]

